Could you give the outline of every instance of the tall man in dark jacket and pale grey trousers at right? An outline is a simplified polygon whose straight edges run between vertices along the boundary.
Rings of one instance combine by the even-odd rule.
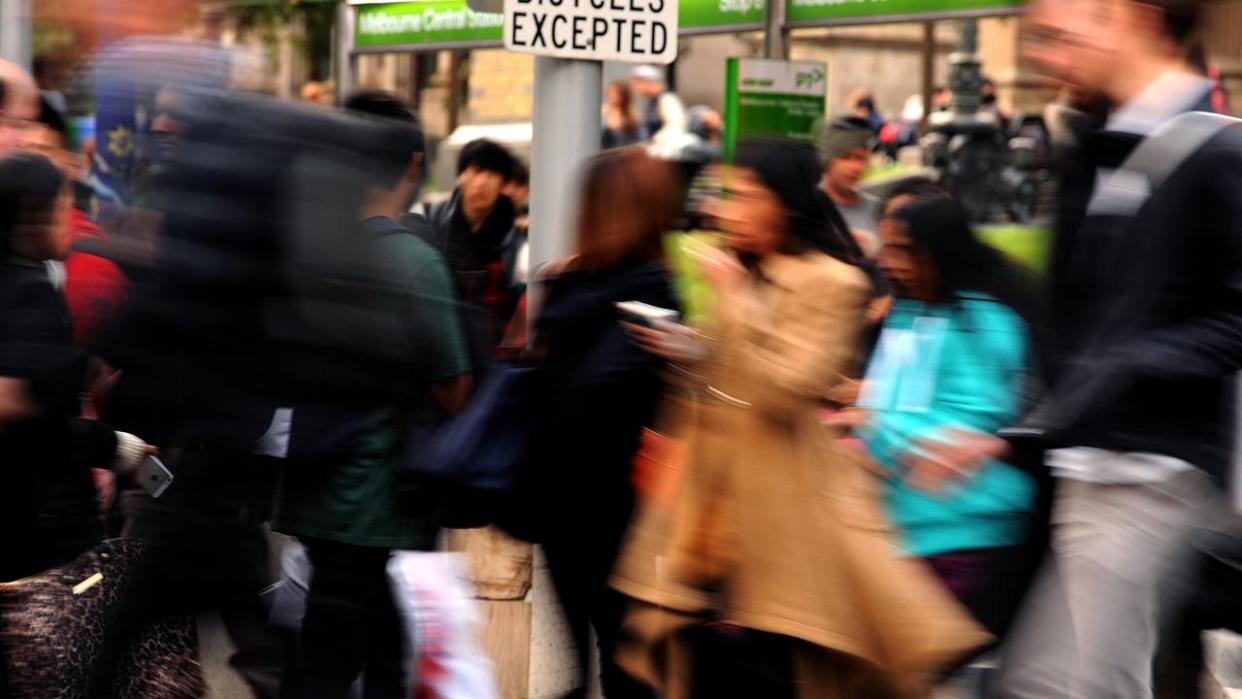
[[[1052,549],[1007,643],[1004,697],[1153,697],[1153,659],[1195,582],[1194,533],[1220,500],[1242,368],[1242,129],[1186,148],[1171,173],[1130,159],[1155,143],[1176,160],[1181,115],[1207,108],[1211,83],[1182,60],[1197,11],[1040,0],[1028,16],[1030,58],[1104,107],[1066,160],[1048,390],[1007,444],[959,435],[915,463],[951,477],[1030,444],[1056,477]]]

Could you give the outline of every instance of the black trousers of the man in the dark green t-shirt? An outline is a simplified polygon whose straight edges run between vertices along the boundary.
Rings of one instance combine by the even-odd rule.
[[[302,634],[284,667],[284,699],[343,699],[361,674],[365,699],[405,695],[401,620],[388,549],[302,539],[310,559]]]

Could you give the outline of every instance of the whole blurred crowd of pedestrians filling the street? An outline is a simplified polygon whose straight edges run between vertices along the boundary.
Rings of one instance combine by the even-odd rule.
[[[435,684],[407,574],[491,524],[546,555],[569,697],[592,646],[610,699],[1197,697],[1242,618],[1242,130],[1199,10],[1032,2],[1046,269],[932,180],[862,191],[867,99],[687,169],[719,115],[638,67],[534,264],[525,164],[472,142],[420,202],[386,92],[144,84],[106,216],[0,63],[4,694],[202,695],[212,610],[258,697],[488,699]]]

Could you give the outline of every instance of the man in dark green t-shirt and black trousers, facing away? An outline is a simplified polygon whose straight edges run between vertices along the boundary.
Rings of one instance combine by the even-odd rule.
[[[375,181],[359,212],[360,268],[350,271],[360,283],[333,299],[338,308],[319,317],[320,330],[342,340],[335,346],[355,350],[339,353],[344,375],[358,376],[360,386],[375,376],[397,385],[342,391],[289,417],[291,457],[298,448],[314,452],[307,444],[315,440],[328,446],[317,458],[291,458],[297,463],[284,471],[273,520],[274,529],[302,540],[313,567],[301,643],[282,680],[286,698],[342,699],[359,674],[368,698],[405,695],[388,560],[394,549],[426,550],[436,538],[428,518],[397,504],[405,436],[416,407],[451,415],[471,385],[448,269],[396,222],[421,181],[417,122],[381,92],[355,93],[345,108],[406,122],[410,130],[392,139],[394,158],[368,168]]]

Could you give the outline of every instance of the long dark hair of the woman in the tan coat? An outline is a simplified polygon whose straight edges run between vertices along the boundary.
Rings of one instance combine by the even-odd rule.
[[[789,139],[765,138],[738,145],[733,164],[745,168],[773,191],[789,214],[785,232],[786,252],[815,250],[842,262],[857,262],[857,256],[842,233],[840,212],[816,186],[820,160],[815,149]]]

